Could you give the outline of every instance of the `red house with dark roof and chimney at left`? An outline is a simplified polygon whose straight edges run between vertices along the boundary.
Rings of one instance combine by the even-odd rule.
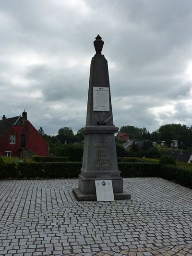
[[[48,156],[48,143],[27,120],[27,112],[22,116],[0,120],[0,156],[31,158],[33,155]]]

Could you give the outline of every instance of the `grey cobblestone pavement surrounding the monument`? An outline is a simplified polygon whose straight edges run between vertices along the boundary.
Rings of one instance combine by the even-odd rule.
[[[126,178],[132,200],[77,202],[77,179],[0,181],[0,256],[192,256],[192,190]]]

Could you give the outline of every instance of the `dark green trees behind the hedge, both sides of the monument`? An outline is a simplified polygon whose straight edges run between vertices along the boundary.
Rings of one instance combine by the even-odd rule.
[[[43,127],[40,127],[38,132],[46,139],[49,144],[49,155],[53,156],[68,156],[70,160],[81,160],[83,157],[83,141],[84,133],[83,127],[78,130],[76,134],[73,133],[72,128],[62,127],[59,129],[57,135],[45,134]],[[120,133],[126,133],[130,139],[144,141],[142,148],[136,145],[132,145],[129,150],[125,150],[122,147],[124,142],[118,139],[116,136],[116,149],[119,157],[149,157],[158,158],[159,152],[157,152],[154,146],[147,146],[146,141],[164,141],[165,145],[170,147],[173,139],[179,140],[179,148],[184,150],[192,150],[192,126],[188,127],[181,124],[166,124],[162,125],[158,130],[150,133],[145,127],[138,128],[131,125],[122,126]]]

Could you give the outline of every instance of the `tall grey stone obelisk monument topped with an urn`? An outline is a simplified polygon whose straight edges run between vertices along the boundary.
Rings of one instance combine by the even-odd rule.
[[[108,61],[101,54],[104,42],[98,35],[94,41],[96,54],[91,61],[84,156],[79,187],[73,188],[78,201],[96,200],[96,180],[111,180],[115,199],[130,199],[123,192],[123,181],[117,164]]]

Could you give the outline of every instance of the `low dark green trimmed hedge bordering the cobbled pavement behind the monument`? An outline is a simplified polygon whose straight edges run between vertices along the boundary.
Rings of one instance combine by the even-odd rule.
[[[81,162],[18,162],[0,165],[0,179],[6,178],[77,178]],[[160,177],[192,187],[192,171],[156,163],[118,163],[121,177]]]

